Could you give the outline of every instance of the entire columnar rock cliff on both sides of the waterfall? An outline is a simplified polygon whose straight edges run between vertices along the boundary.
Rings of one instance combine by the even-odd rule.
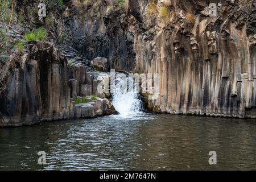
[[[48,23],[36,12],[29,18],[39,3],[31,2],[17,3],[27,23],[10,36],[47,27],[54,17],[51,41],[76,64],[67,67],[52,43],[28,43],[18,61],[11,57],[16,68],[6,64],[6,79],[1,75],[2,126],[112,113],[106,100],[74,102],[97,94],[99,81],[81,66],[90,63],[102,71],[158,73],[159,97],[147,100],[156,113],[256,118],[255,0],[67,0],[61,8],[47,3]]]

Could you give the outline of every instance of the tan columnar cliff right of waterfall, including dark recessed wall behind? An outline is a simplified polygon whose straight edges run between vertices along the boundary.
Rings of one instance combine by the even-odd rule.
[[[87,23],[86,30],[94,30],[87,35],[96,36],[98,46],[80,50],[92,59],[108,57],[116,71],[158,73],[158,100],[148,100],[154,112],[255,118],[255,1],[152,2],[129,0],[126,11],[117,1],[102,1],[100,16],[93,16],[97,26],[88,26],[92,16],[80,16],[74,29]],[[210,15],[210,3],[216,16]],[[93,5],[88,14],[97,11]]]

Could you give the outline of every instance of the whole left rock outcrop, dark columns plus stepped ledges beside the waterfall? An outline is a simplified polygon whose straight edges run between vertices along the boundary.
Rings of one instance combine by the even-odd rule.
[[[27,51],[20,68],[13,69],[7,79],[0,99],[0,126],[113,113],[112,105],[105,98],[75,104],[80,94],[92,96],[93,78],[85,67],[67,68],[67,60],[52,43],[28,42]],[[86,92],[84,85],[89,88]]]

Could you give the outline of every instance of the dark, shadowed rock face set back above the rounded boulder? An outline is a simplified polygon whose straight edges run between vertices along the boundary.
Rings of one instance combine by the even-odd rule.
[[[106,57],[109,67],[129,72],[135,64],[133,34],[127,27],[126,10],[118,0],[94,0],[88,4],[70,1],[64,11],[64,32],[86,59]]]

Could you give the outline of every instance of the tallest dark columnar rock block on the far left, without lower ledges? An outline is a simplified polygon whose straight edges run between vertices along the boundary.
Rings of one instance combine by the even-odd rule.
[[[28,43],[27,59],[14,69],[0,100],[3,126],[65,119],[70,100],[67,65],[53,44]]]

